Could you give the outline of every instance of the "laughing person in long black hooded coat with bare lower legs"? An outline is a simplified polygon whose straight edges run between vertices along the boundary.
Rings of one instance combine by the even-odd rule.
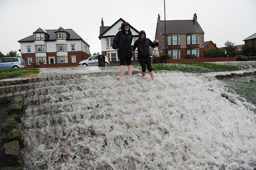
[[[120,76],[122,80],[124,79],[125,64],[127,64],[129,78],[132,78],[132,40],[133,35],[129,23],[122,23],[121,31],[117,32],[112,45],[112,48],[117,51],[117,56],[120,60]]]

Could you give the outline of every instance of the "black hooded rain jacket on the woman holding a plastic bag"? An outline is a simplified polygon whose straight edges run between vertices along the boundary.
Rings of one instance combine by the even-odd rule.
[[[140,39],[140,35],[145,34],[143,40]],[[134,42],[133,50],[136,50],[138,47],[138,59],[148,58],[150,57],[149,46],[155,47],[158,46],[158,42],[153,43],[150,39],[146,38],[145,31],[141,30],[139,33],[139,39]]]

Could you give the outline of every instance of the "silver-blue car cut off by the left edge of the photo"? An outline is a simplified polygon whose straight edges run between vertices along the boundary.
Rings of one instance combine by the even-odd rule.
[[[21,57],[3,57],[0,58],[0,68],[27,68],[27,66]]]

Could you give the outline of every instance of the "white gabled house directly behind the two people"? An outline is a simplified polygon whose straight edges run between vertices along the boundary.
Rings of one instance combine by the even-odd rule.
[[[99,39],[101,40],[101,54],[110,58],[111,62],[119,61],[117,57],[117,52],[112,48],[113,39],[115,38],[116,33],[121,30],[121,24],[124,21],[122,18],[118,19],[112,26],[104,26],[103,18],[101,18],[101,26],[100,26],[100,35]],[[133,42],[139,39],[139,31],[130,25],[130,30],[133,34]],[[133,54],[133,61],[138,60],[138,52],[135,50]]]

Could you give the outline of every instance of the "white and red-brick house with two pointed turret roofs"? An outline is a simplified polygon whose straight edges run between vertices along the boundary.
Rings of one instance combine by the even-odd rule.
[[[73,29],[38,28],[21,44],[28,68],[73,67],[89,57],[89,45]]]

